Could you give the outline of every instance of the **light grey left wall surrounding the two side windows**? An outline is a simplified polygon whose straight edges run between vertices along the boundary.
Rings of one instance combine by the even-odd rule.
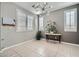
[[[31,15],[36,17],[31,12],[13,4],[10,2],[1,3],[1,17],[10,17],[16,19],[16,9],[21,9],[26,15]],[[31,40],[35,37],[36,30],[25,31],[25,32],[16,32],[16,27],[11,26],[1,26],[1,47],[9,47],[27,40]]]

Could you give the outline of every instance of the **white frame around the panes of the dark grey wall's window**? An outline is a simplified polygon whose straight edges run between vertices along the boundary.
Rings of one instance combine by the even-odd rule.
[[[71,14],[71,12],[75,12],[75,15],[74,15],[74,25],[73,25],[73,28],[72,28],[72,24],[71,24],[71,15],[73,15],[73,14]],[[66,13],[69,13],[70,15],[69,16],[67,16],[67,17],[69,17],[70,19],[69,19],[69,21],[70,21],[70,23],[69,23],[69,25],[67,25],[66,23]],[[65,32],[77,32],[77,8],[74,8],[74,9],[70,9],[70,10],[66,10],[66,11],[64,11],[64,31]]]

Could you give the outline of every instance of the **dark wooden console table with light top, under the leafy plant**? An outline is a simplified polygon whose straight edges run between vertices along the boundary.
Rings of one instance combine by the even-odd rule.
[[[62,34],[45,33],[45,35],[46,35],[46,40],[47,41],[50,39],[50,40],[59,41],[59,43],[61,43],[61,36],[62,36]]]

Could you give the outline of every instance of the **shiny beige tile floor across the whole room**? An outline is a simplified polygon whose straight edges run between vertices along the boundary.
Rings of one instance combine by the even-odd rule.
[[[55,41],[32,40],[0,53],[1,57],[79,57],[79,47]]]

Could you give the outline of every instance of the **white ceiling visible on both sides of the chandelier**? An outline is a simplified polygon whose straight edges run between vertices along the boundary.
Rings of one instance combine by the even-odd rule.
[[[23,7],[24,9],[36,14],[35,10],[32,8],[32,5],[37,2],[14,2],[15,4]],[[48,2],[49,5],[52,5],[50,11],[61,9],[67,6],[78,4],[78,2]]]

